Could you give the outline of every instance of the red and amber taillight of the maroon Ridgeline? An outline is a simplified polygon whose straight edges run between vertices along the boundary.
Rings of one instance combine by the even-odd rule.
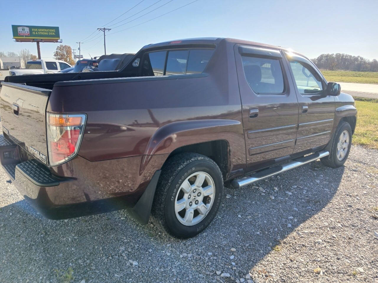
[[[85,119],[85,114],[47,112],[47,146],[51,166],[64,163],[77,154],[84,132]]]

